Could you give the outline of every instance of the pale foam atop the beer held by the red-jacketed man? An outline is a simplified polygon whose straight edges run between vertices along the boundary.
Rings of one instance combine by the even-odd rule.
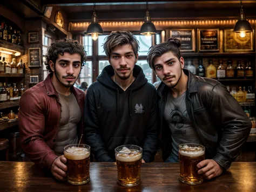
[[[90,152],[83,147],[70,147],[64,150],[64,156],[70,160],[83,160],[90,156]]]

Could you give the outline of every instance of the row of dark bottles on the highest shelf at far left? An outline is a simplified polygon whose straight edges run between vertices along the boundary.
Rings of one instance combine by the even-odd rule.
[[[7,25],[2,19],[0,23],[0,39],[17,45],[22,45],[21,31]]]

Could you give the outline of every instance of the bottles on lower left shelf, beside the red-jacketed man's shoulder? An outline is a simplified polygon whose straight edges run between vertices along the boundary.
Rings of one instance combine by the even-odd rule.
[[[5,83],[0,83],[0,102],[6,102],[11,100],[17,100],[21,97],[21,95],[26,91],[26,86],[21,84],[21,88],[18,90],[16,84],[8,84],[6,87]]]

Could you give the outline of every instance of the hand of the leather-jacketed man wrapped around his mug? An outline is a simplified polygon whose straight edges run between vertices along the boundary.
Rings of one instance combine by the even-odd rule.
[[[223,172],[223,168],[214,160],[206,159],[197,164],[198,174],[210,180],[213,177],[219,176]]]

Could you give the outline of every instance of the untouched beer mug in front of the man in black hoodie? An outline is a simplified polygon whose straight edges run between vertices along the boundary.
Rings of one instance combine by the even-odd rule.
[[[114,149],[117,161],[117,182],[121,186],[132,187],[140,183],[142,148],[136,145],[123,145]]]

